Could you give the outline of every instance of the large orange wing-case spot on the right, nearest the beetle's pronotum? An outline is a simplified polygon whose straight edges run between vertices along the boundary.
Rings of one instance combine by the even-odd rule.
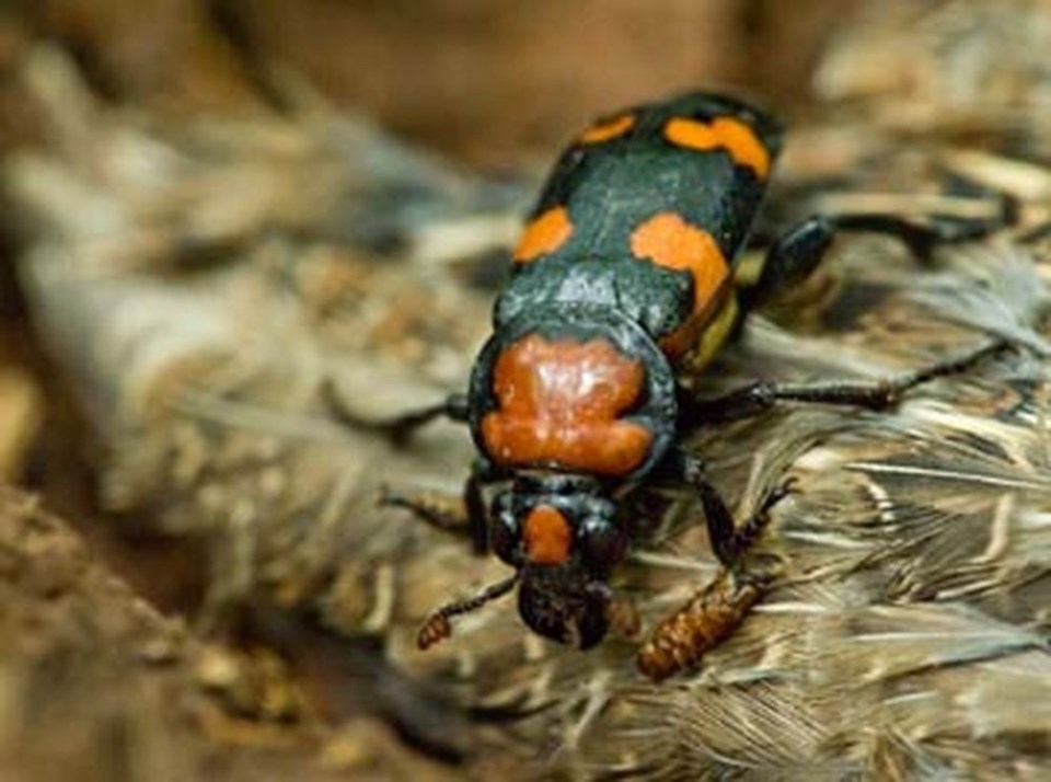
[[[693,276],[693,311],[708,308],[730,277],[730,265],[707,231],[673,211],[661,211],[632,231],[632,253]]]

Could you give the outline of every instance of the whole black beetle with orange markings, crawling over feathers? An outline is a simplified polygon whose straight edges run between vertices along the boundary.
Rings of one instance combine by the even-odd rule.
[[[889,233],[926,257],[942,242],[994,227],[811,217],[773,242],[758,279],[741,287],[735,263],[781,145],[782,129],[765,113],[694,92],[600,119],[563,152],[513,251],[466,394],[374,425],[397,439],[441,416],[470,426],[478,458],[464,488],[466,528],[478,550],[515,568],[439,609],[420,632],[421,647],[451,632],[451,617],[516,585],[519,612],[535,632],[593,646],[610,625],[609,578],[631,542],[631,497],[674,484],[696,493],[726,568],[639,654],[645,674],[674,672],[731,632],[758,599],[741,554],[782,495],[735,524],[703,462],[681,447],[685,435],[784,400],[885,407],[1004,346],[986,340],[968,355],[881,382],[758,382],[697,399],[691,379],[741,318],[806,279],[838,231]],[[485,490],[497,485],[487,503]],[[425,502],[389,502],[450,526]]]

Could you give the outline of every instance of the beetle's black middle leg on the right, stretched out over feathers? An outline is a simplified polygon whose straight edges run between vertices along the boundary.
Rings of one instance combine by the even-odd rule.
[[[735,389],[709,400],[685,398],[680,426],[690,429],[711,423],[751,418],[779,402],[807,404],[851,405],[868,410],[885,410],[897,404],[909,390],[935,378],[956,375],[973,367],[982,359],[1012,346],[1007,340],[986,342],[970,353],[932,364],[894,378],[868,383],[773,383],[759,381]]]

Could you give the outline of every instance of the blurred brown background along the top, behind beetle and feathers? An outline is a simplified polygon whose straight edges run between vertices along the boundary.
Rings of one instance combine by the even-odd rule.
[[[696,84],[807,97],[856,0],[12,0],[0,138],[34,137],[12,69],[61,43],[103,95],[177,118],[280,102],[301,78],[407,138],[492,169],[548,153],[597,111]]]

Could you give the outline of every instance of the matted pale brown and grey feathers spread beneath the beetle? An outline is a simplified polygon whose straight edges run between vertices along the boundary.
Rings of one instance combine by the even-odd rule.
[[[53,59],[42,67],[38,89],[76,92]],[[465,617],[453,641],[420,654],[415,635],[434,596],[470,594],[504,568],[378,510],[374,498],[384,482],[454,490],[467,438],[440,429],[394,451],[344,426],[333,401],[390,412],[465,377],[487,296],[464,291],[452,256],[417,252],[416,240],[448,235],[442,220],[493,226],[506,215],[477,206],[484,185],[453,186],[424,166],[424,202],[443,217],[409,210],[384,222],[405,241],[383,258],[325,227],[347,215],[368,222],[376,173],[356,169],[362,158],[394,160],[388,183],[417,183],[421,169],[333,117],[173,139],[89,111],[80,95],[49,103],[82,107],[66,129],[92,143],[81,150],[78,136],[65,154],[5,169],[39,227],[21,263],[31,304],[109,449],[106,501],[169,532],[209,537],[206,620],[266,594],[335,637],[379,640],[383,670],[441,693],[454,715],[444,738],[469,773],[494,756],[513,761],[516,779],[1037,779],[1047,767],[1051,386],[1040,242],[947,249],[933,271],[880,240],[844,242],[842,296],[811,331],[759,319],[727,353],[704,391],[755,378],[885,377],[989,335],[1023,346],[891,412],[776,410],[691,442],[742,510],[786,475],[798,482],[751,554],[772,590],[698,671],[644,683],[634,643],[553,648],[507,610]],[[344,146],[326,146],[333,138]],[[149,175],[112,170],[117,145],[153,160]],[[206,175],[217,157],[241,173]],[[218,209],[254,170],[253,181],[276,183],[276,200],[205,220],[236,228],[219,231],[212,263],[181,266],[185,204]],[[286,184],[321,170],[333,184],[299,205],[297,235],[270,225]],[[161,195],[143,206],[150,193]],[[70,214],[102,217],[81,225]],[[99,226],[105,241],[85,243]],[[139,250],[143,237],[152,254]],[[715,572],[692,522],[697,508],[668,501],[665,525],[617,585],[647,626]],[[391,711],[411,735],[423,731],[412,699],[397,698]]]

